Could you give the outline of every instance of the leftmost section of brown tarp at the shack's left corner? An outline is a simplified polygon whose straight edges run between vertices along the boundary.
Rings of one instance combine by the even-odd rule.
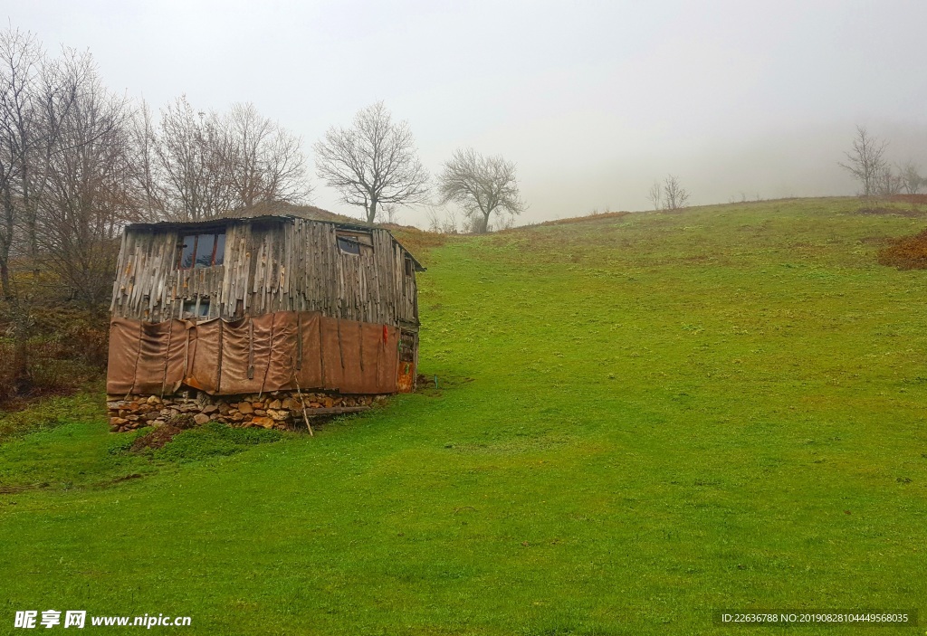
[[[114,318],[109,324],[107,393],[175,392],[184,381],[190,326],[184,320]]]

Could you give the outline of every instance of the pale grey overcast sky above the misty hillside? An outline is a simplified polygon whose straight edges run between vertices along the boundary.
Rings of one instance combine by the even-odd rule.
[[[513,160],[521,222],[646,208],[667,173],[695,204],[855,193],[836,162],[857,123],[927,168],[924,0],[3,4],[153,106],[254,103],[310,161],[382,99],[432,172],[460,146]]]

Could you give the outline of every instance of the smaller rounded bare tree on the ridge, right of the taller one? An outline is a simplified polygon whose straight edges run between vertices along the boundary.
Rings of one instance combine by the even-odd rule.
[[[457,150],[438,177],[441,204],[455,203],[471,218],[471,230],[489,231],[489,215],[521,214],[527,205],[518,192],[515,165],[502,156]]]

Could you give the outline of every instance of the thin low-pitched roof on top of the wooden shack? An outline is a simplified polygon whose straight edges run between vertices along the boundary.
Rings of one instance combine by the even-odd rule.
[[[412,258],[415,264],[415,271],[425,271],[425,267],[417,258],[406,249],[405,245],[400,243],[393,233],[387,228],[367,223],[358,218],[345,217],[334,212],[329,212],[321,207],[315,206],[294,206],[284,202],[265,202],[256,206],[237,208],[228,210],[222,214],[198,221],[156,221],[154,223],[130,223],[125,226],[126,230],[178,230],[188,229],[197,230],[200,228],[215,228],[224,225],[227,221],[248,220],[248,221],[280,221],[283,219],[301,218],[304,220],[317,221],[321,223],[330,223],[339,228],[347,230],[383,230],[389,234],[389,237],[395,241],[405,253]]]

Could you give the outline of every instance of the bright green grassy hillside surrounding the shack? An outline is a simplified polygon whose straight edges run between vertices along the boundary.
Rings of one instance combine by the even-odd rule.
[[[216,427],[135,455],[102,395],[35,406],[0,444],[0,633],[52,608],[217,635],[779,633],[722,608],[927,625],[927,273],[876,264],[927,213],[858,207],[450,240],[419,278],[438,388],[314,438]]]

